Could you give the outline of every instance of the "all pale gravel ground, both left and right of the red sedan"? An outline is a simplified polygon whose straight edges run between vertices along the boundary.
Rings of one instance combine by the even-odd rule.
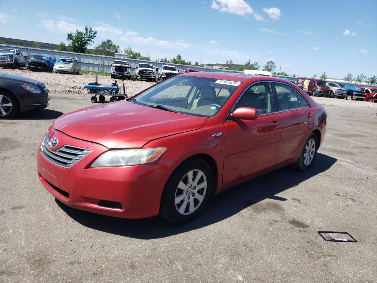
[[[52,72],[33,72],[26,69],[0,69],[2,72],[20,75],[28,78],[33,78],[43,82],[50,90],[51,94],[81,94],[88,95],[87,90],[83,86],[87,83],[94,82],[94,75],[71,75],[71,74],[55,74]],[[107,76],[98,75],[98,82],[102,85],[111,85],[113,79]],[[154,83],[152,82],[139,82],[139,81],[125,81],[125,86],[128,88],[129,95],[135,95],[140,91],[149,88]],[[118,80],[118,85],[121,81]],[[345,107],[363,107],[363,108],[377,108],[377,103],[366,101],[348,101],[340,98],[325,98],[313,97],[316,102],[322,105],[330,106],[345,106]]]

